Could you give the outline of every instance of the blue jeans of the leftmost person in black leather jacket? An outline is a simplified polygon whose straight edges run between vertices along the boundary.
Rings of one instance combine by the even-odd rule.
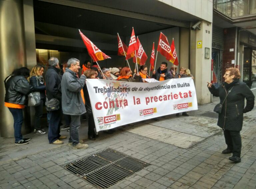
[[[15,142],[20,142],[23,140],[23,136],[21,134],[21,126],[23,123],[23,109],[19,108],[8,108],[14,119],[14,137]]]

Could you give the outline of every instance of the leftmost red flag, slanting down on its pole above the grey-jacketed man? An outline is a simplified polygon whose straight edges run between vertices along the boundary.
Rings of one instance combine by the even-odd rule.
[[[103,53],[100,49],[98,49],[98,47],[96,47],[80,30],[79,33],[84,42],[84,45],[88,50],[89,55],[91,56],[94,62],[111,58],[105,53]]]

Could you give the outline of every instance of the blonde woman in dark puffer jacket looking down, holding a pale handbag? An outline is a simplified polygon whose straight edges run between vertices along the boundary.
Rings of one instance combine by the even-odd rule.
[[[40,104],[35,106],[35,122],[34,122],[34,132],[39,135],[46,134],[46,131],[41,127],[41,118],[43,116],[43,106],[45,103],[45,85],[44,85],[44,66],[41,64],[35,65],[29,77],[30,85],[32,86],[33,92],[40,92]]]

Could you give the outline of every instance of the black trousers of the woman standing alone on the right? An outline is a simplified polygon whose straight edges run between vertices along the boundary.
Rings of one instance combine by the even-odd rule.
[[[227,144],[227,148],[231,149],[233,152],[233,156],[240,157],[241,148],[242,148],[242,140],[240,131],[224,131],[225,142]]]

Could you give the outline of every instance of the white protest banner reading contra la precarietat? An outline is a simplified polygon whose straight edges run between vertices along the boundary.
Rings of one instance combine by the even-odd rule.
[[[197,110],[191,77],[154,83],[86,79],[96,131]]]

